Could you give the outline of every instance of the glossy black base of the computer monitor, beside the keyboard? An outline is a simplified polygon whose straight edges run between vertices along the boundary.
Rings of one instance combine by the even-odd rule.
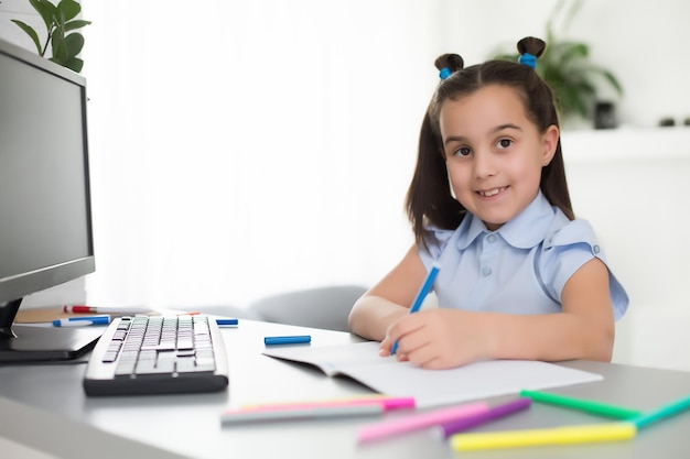
[[[13,324],[21,299],[0,307],[0,363],[76,359],[90,351],[105,327],[51,328]],[[13,309],[13,310],[12,310]]]

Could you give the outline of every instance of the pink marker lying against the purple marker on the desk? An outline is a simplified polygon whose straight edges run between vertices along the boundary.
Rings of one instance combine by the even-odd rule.
[[[371,424],[363,427],[357,433],[359,442],[377,440],[392,435],[403,434],[410,430],[418,430],[451,420],[462,419],[488,411],[488,405],[484,402],[471,403],[468,405],[454,406],[452,408],[436,409],[430,413],[421,413],[406,416],[389,422]]]

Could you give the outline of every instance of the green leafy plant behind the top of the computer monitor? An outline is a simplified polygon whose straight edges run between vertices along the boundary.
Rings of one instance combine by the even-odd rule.
[[[75,19],[82,12],[79,3],[75,0],[61,0],[57,4],[53,4],[48,0],[29,0],[29,2],[45,23],[47,32],[45,43],[41,44],[39,33],[31,25],[15,19],[12,22],[26,32],[36,45],[39,55],[45,57],[50,47],[50,61],[76,73],[82,72],[84,61],[77,55],[84,47],[84,35],[73,31],[90,24],[90,21]]]

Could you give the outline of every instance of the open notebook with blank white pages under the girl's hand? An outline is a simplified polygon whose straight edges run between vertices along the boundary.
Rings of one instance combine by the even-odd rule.
[[[450,370],[424,370],[393,357],[379,357],[378,348],[378,342],[369,341],[281,347],[267,349],[263,354],[309,363],[328,376],[348,376],[382,394],[413,396],[419,407],[603,380],[601,374],[527,360],[490,360]]]

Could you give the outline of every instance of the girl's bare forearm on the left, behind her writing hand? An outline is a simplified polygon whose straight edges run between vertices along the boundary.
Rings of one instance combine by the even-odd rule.
[[[386,277],[355,303],[349,313],[349,330],[382,341],[388,327],[409,313],[425,277],[427,269],[413,245]]]

